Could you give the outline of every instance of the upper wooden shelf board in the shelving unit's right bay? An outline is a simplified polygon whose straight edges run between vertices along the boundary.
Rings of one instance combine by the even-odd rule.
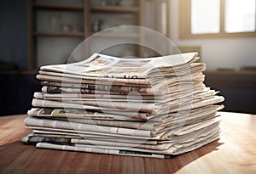
[[[124,7],[124,6],[91,6],[91,11],[95,12],[111,12],[111,13],[137,13],[138,7]]]

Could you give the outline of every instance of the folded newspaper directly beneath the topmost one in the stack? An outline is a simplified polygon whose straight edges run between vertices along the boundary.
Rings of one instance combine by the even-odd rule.
[[[145,79],[131,78],[131,79],[119,79],[119,78],[100,78],[91,79],[89,76],[81,76],[81,75],[73,75],[61,72],[52,72],[52,71],[44,71],[40,70],[37,78],[41,81],[52,81],[54,82],[55,87],[60,87],[60,83],[63,83],[65,86],[74,86],[74,87],[82,87],[87,90],[99,90],[108,87],[108,89],[113,88],[114,92],[117,93],[117,90],[120,90],[119,87],[123,87],[124,90],[127,90],[125,87],[141,87],[147,88],[152,87],[152,84],[157,84],[159,82],[160,85],[165,83],[173,83],[173,82],[182,82],[182,81],[203,81],[204,75],[201,73],[202,70],[205,70],[204,64],[192,64],[189,66],[185,66],[181,72],[179,70],[156,70],[153,75],[148,74],[145,76]],[[173,71],[173,72],[172,72]],[[116,71],[115,73],[118,73]],[[48,83],[49,84],[49,83]],[[70,85],[73,84],[73,85]],[[74,84],[82,84],[82,85],[74,85]],[[117,86],[117,87],[116,87]],[[90,87],[90,88],[89,88]],[[93,89],[94,88],[94,89]],[[155,89],[155,88],[154,88]],[[145,89],[143,89],[145,90]],[[127,92],[127,91],[126,91]]]

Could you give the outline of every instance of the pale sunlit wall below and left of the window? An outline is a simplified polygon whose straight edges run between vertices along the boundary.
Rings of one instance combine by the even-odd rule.
[[[178,32],[178,0],[170,0],[170,37],[177,46],[201,46],[201,61],[207,70],[256,66],[256,37],[180,40]]]

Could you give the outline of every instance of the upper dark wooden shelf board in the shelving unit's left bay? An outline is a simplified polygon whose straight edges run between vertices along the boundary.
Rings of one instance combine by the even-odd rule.
[[[84,9],[84,4],[76,3],[42,3],[34,2],[32,3],[35,8],[48,8],[48,9]]]

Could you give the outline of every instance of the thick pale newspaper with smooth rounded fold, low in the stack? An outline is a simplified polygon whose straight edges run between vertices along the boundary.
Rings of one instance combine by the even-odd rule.
[[[68,130],[78,130],[82,132],[101,132],[108,134],[120,134],[125,136],[135,136],[135,137],[143,137],[143,138],[160,138],[165,134],[165,139],[172,138],[172,134],[175,135],[184,135],[190,132],[195,132],[196,130],[200,130],[204,127],[211,126],[212,124],[218,122],[219,120],[213,117],[212,119],[208,119],[206,121],[201,121],[193,124],[184,125],[183,127],[166,127],[165,129],[157,131],[148,131],[143,130],[141,127],[143,125],[138,126],[138,128],[131,129],[125,128],[121,126],[98,126],[96,124],[88,124],[88,123],[78,123],[78,122],[70,122],[70,121],[60,121],[60,120],[50,120],[50,119],[40,119],[36,117],[28,117],[25,120],[26,126],[41,126],[41,127],[49,127],[49,128],[57,128],[57,129],[68,129]],[[125,123],[124,123],[125,124]],[[126,124],[127,125],[127,124]],[[150,123],[146,126],[150,126]],[[151,126],[154,126],[154,123],[151,123]],[[160,137],[159,137],[160,136]],[[171,136],[171,137],[170,137]]]

